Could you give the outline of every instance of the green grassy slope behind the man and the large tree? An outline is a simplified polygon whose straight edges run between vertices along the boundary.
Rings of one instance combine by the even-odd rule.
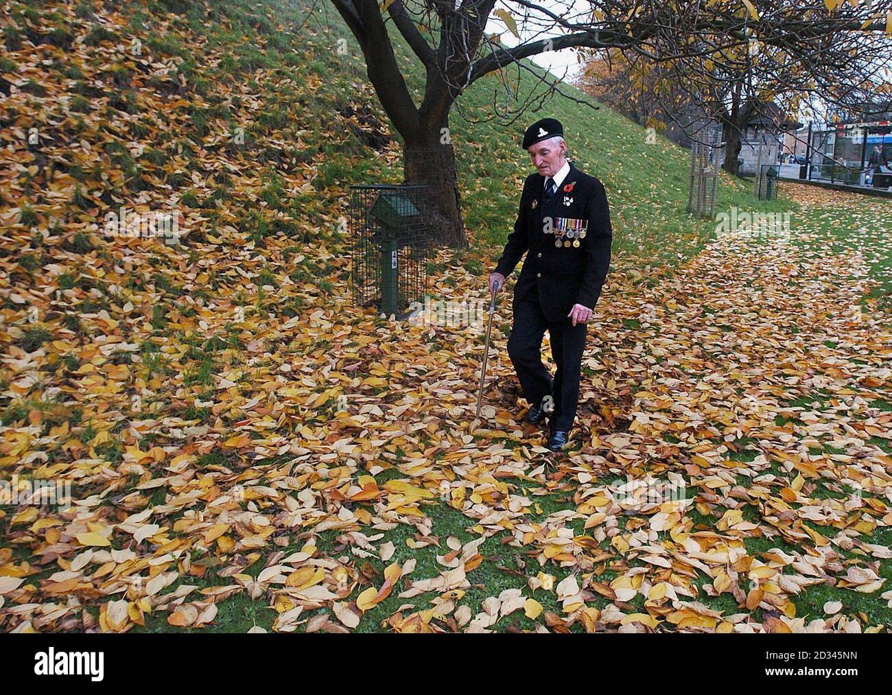
[[[111,64],[97,66],[97,72],[89,70],[90,66],[71,65],[64,54],[56,56],[49,69],[43,69],[46,73],[43,80],[34,73],[21,75],[21,66],[14,59],[7,59],[3,71],[13,75],[18,72],[26,81],[39,81],[51,93],[58,89],[72,99],[79,97],[77,109],[86,114],[98,115],[95,111],[102,108],[100,104],[128,99],[134,103],[129,110],[138,112],[145,103],[139,103],[138,97],[131,95],[137,86],[128,83],[126,77],[116,78],[116,73],[131,67],[126,49],[133,37],[142,37],[146,51],[153,58],[178,62],[170,77],[180,80],[182,87],[176,87],[178,95],[182,94],[192,105],[187,109],[186,118],[176,124],[178,129],[164,128],[174,124],[164,122],[167,114],[158,114],[156,124],[161,128],[162,140],[159,143],[158,137],[145,138],[150,145],[149,155],[133,158],[127,153],[102,153],[103,168],[142,175],[148,179],[143,186],[150,192],[155,192],[163,183],[179,194],[181,202],[185,196],[187,205],[205,208],[207,203],[212,207],[213,187],[195,190],[186,177],[152,178],[151,175],[161,169],[160,164],[153,162],[164,161],[172,149],[178,150],[180,162],[186,165],[181,171],[188,170],[194,153],[189,151],[191,147],[185,153],[180,149],[181,138],[190,137],[194,143],[194,136],[198,136],[207,143],[216,137],[223,141],[222,149],[237,165],[244,163],[259,170],[263,185],[260,193],[266,194],[270,209],[293,217],[293,224],[281,225],[293,236],[302,236],[301,231],[307,227],[324,236],[334,235],[336,220],[345,212],[342,197],[351,183],[401,180],[398,145],[392,142],[385,151],[376,153],[363,144],[361,134],[345,127],[350,123],[338,115],[345,108],[368,109],[386,123],[365,79],[359,48],[331,7],[322,4],[308,16],[301,3],[265,0],[257,5],[262,12],[252,4],[240,2],[211,3],[215,10],[208,17],[195,11],[167,12],[167,8],[178,10],[181,4],[176,0],[116,4],[121,9],[118,16],[126,18],[127,23],[104,37],[93,23],[94,5],[89,2],[78,4],[79,28],[72,28],[61,13],[53,12],[52,4],[34,0],[9,3],[13,19],[5,30],[7,46],[14,47],[22,39],[27,41],[29,31],[37,29],[44,33],[62,32],[55,39],[57,42],[70,41],[78,34],[86,36],[87,43],[95,43],[92,54],[96,62],[102,56],[100,47],[118,44],[125,50]],[[102,4],[95,6],[97,10],[103,7]],[[199,38],[187,40],[184,34]],[[420,95],[422,73],[409,57],[409,49],[400,41],[397,46],[409,85]],[[47,75],[50,76],[48,83]],[[108,88],[93,91],[90,78],[103,80],[103,87]],[[138,89],[168,93],[174,88],[169,79],[153,79],[142,80]],[[535,82],[524,71],[519,85],[513,86],[524,95]],[[215,86],[241,92],[242,101],[222,98]],[[687,153],[659,137],[656,145],[646,145],[643,128],[623,116],[607,107],[592,111],[560,96],[541,112],[529,112],[511,125],[505,120],[489,120],[493,113],[493,95],[499,87],[498,79],[493,76],[478,81],[462,97],[461,112],[458,109],[453,112],[450,124],[457,146],[467,227],[481,250],[483,247],[489,247],[490,252],[497,249],[513,221],[519,186],[530,170],[517,139],[527,121],[543,115],[557,117],[565,123],[578,165],[601,178],[607,186],[615,220],[615,248],[621,253],[620,259],[622,254],[629,253],[639,256],[645,265],[658,265],[677,261],[678,253],[684,258],[698,249],[712,223],[692,219],[684,211]],[[568,94],[582,96],[574,87],[565,88]],[[39,89],[35,87],[36,92]],[[250,102],[244,98],[249,94]],[[489,121],[469,122],[474,120]],[[357,125],[355,117],[350,121],[353,126]],[[145,119],[140,122],[153,125],[151,120],[148,124]],[[247,137],[242,151],[226,142],[227,136],[238,127],[245,128]],[[139,132],[138,126],[131,126],[130,131],[133,141],[145,135]],[[219,143],[214,144],[219,147]],[[291,180],[281,170],[282,162],[290,157],[296,158],[313,177],[311,186],[296,196],[287,190]],[[139,186],[129,186],[131,191],[134,187]],[[256,189],[247,191],[256,192]],[[262,225],[252,214],[254,206],[250,196],[241,193],[237,187],[218,190],[216,198],[226,196],[232,203],[232,218],[227,221],[241,229],[260,226],[262,233]],[[28,207],[33,202],[26,196],[24,203]],[[789,207],[789,203],[784,204]],[[751,199],[746,182],[723,173],[716,210],[726,210],[732,205],[750,210],[777,208],[778,203],[758,206]]]

